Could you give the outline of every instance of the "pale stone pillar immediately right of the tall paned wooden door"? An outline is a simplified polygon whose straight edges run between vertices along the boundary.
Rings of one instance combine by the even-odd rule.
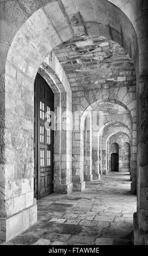
[[[71,119],[67,114],[66,92],[54,95],[57,122],[54,131],[54,193],[68,194],[73,190],[71,157]]]

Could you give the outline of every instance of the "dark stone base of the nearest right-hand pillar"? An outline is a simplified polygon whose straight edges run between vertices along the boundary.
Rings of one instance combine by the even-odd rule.
[[[139,230],[137,212],[133,214],[133,244],[144,245],[145,244],[145,232]]]

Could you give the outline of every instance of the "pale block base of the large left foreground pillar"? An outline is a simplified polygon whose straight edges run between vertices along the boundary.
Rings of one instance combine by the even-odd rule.
[[[8,218],[0,218],[0,241],[7,242],[37,221],[37,205],[26,208]]]

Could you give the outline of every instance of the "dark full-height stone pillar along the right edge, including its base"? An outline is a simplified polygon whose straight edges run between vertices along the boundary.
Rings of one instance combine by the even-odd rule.
[[[136,20],[139,31],[137,60],[137,213],[134,214],[134,244],[144,245],[148,233],[148,52],[147,2]],[[138,54],[137,54],[138,55]],[[137,229],[136,229],[137,227]],[[137,239],[137,237],[140,239]]]

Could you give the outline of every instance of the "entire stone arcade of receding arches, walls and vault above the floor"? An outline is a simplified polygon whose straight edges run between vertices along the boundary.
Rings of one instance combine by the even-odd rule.
[[[147,1],[3,0],[0,9],[0,240],[37,221],[36,199],[126,172],[134,244],[146,244]]]

